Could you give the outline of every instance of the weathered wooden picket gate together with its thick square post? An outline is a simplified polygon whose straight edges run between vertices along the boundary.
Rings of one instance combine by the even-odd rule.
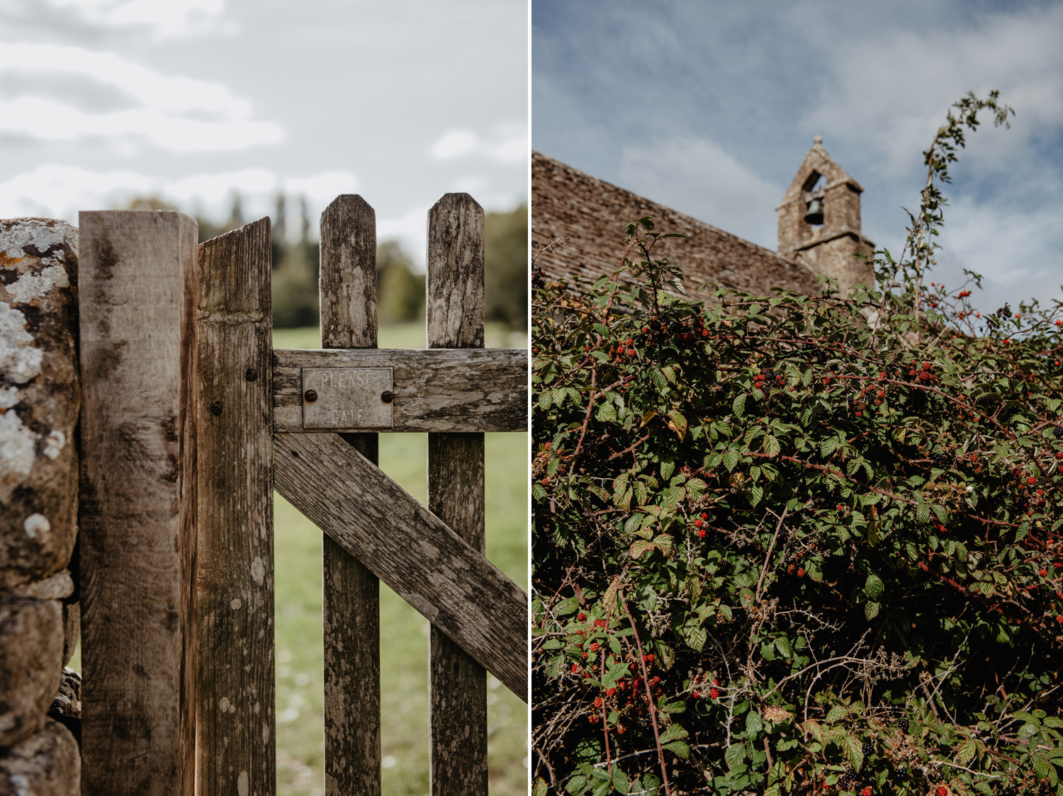
[[[275,488],[324,531],[325,793],[381,793],[383,580],[432,623],[432,791],[486,794],[485,670],[526,701],[528,649],[483,435],[526,430],[527,352],[483,348],[479,205],[428,214],[424,351],[376,349],[360,197],[322,216],[319,351],[272,348],[268,218],[80,224],[83,793],[275,792]],[[376,468],[393,431],[428,433],[427,508]]]

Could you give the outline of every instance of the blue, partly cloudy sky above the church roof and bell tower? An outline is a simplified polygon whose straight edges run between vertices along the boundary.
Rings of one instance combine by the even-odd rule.
[[[1016,116],[952,167],[938,275],[1063,298],[1063,2],[534,0],[532,40],[534,149],[773,250],[822,135],[896,254],[949,104],[999,88]]]

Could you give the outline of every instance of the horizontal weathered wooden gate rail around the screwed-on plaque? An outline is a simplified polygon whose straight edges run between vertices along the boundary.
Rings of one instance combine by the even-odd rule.
[[[273,352],[274,429],[304,433],[303,368],[388,366],[394,369],[394,425],[377,430],[527,430],[527,349],[277,350]]]

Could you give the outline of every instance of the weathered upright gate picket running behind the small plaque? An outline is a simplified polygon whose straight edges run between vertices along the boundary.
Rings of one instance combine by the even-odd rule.
[[[359,196],[321,215],[321,346],[376,348],[376,214]],[[302,388],[296,386],[302,428]],[[344,434],[373,464],[375,434]],[[325,795],[381,793],[379,581],[325,535],[322,542]]]

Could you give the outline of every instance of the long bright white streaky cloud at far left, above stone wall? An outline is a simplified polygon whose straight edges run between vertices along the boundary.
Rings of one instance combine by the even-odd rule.
[[[98,136],[126,147],[132,137],[171,152],[232,151],[284,139],[279,124],[253,120],[251,103],[221,84],[159,74],[114,53],[14,43],[0,48],[3,71],[88,78],[137,106],[94,114],[45,97],[16,97],[0,100],[0,132],[53,141]]]

